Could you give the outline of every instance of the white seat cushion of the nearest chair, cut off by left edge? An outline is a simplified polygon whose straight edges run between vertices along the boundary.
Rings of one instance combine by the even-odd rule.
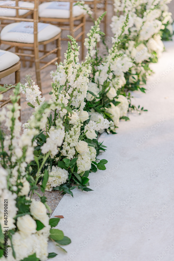
[[[20,60],[19,56],[13,54],[13,52],[8,52],[0,50],[0,71],[10,68]]]

